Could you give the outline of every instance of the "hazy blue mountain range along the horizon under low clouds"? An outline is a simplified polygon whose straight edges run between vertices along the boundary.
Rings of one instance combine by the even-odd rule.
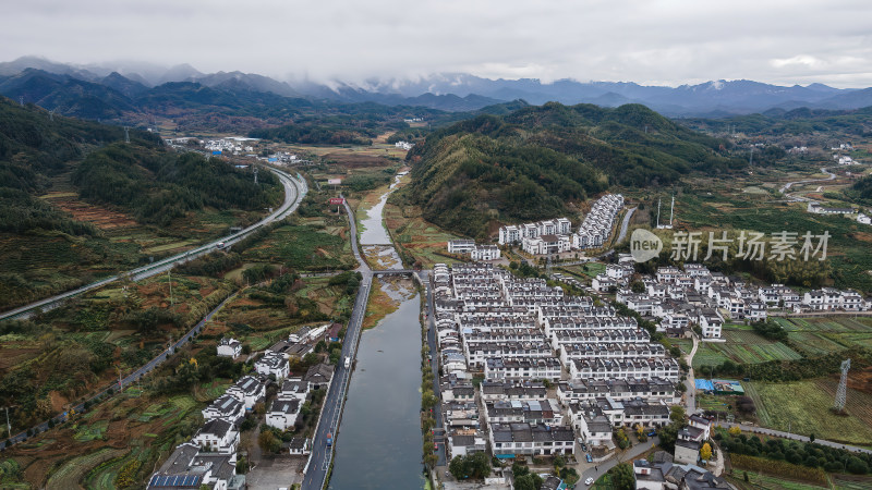
[[[463,73],[434,74],[416,79],[372,78],[363,83],[331,81],[278,81],[268,76],[218,72],[205,74],[189,64],[160,68],[143,63],[74,65],[36,57],[24,57],[0,63],[0,94],[16,99],[35,95],[27,101],[45,106],[40,100],[49,90],[34,84],[22,86],[26,73],[39,71],[63,76],[50,83],[53,89],[81,94],[89,102],[110,105],[117,112],[129,110],[123,103],[113,106],[114,94],[100,94],[90,83],[108,87],[125,98],[136,98],[168,83],[198,84],[203,87],[234,93],[262,93],[295,99],[325,100],[340,103],[376,102],[385,106],[425,107],[443,111],[473,111],[486,106],[522,99],[532,105],[557,101],[565,105],[594,103],[618,107],[641,103],[668,117],[719,118],[763,112],[770,109],[850,110],[872,106],[872,88],[834,88],[823,84],[778,86],[748,79],[712,81],[678,87],[646,86],[632,82],[578,82],[558,79],[544,83],[536,78],[491,79]],[[12,81],[10,83],[10,81]],[[56,100],[45,100],[53,103]],[[100,111],[102,109],[97,109]],[[94,111],[92,111],[94,112]],[[109,111],[110,113],[112,111]],[[87,114],[78,114],[85,115]]]

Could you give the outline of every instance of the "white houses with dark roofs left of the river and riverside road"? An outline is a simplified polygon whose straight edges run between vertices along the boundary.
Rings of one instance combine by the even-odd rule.
[[[302,357],[313,352],[315,343],[324,338],[329,328],[329,324],[304,327],[290,334],[288,340],[269,347],[254,363],[252,373],[240,378],[225,394],[203,408],[203,427],[189,442],[175,448],[152,475],[147,488],[246,488],[245,476],[235,474],[240,426],[255,405],[267,402],[266,389],[274,382],[278,385],[278,393],[266,407],[266,425],[287,430],[296,424],[311,393],[329,388],[334,366],[319,363],[311,366],[304,375],[292,376],[288,370],[288,362],[294,356]],[[222,339],[217,351],[220,356],[235,358],[241,354],[241,344],[233,339]],[[306,438],[293,438],[288,443],[288,450],[290,454],[305,455],[310,453],[311,444],[312,441]]]

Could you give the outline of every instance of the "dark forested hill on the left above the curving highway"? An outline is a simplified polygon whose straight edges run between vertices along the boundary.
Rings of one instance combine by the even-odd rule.
[[[123,142],[121,127],[50,118],[0,97],[0,232],[96,233],[36,197],[59,181],[85,200],[155,224],[207,206],[259,210],[279,198],[271,175],[263,176],[272,185],[257,186],[226,162],[168,151],[146,132],[131,131],[131,143]]]

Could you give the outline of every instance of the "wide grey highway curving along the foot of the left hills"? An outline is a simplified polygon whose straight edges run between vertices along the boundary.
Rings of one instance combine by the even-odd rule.
[[[65,293],[58,294],[56,296],[51,296],[45,299],[40,299],[35,303],[31,303],[29,305],[21,306],[19,308],[11,309],[9,311],[4,311],[0,314],[0,320],[5,320],[16,317],[26,317],[34,310],[47,310],[55,308],[66,298],[76,296],[82,293],[86,293],[92,290],[96,290],[98,287],[102,287],[107,284],[118,281],[122,277],[128,277],[134,281],[140,281],[145,278],[159,274],[175,267],[179,264],[186,262],[196,257],[208,254],[209,252],[218,249],[219,244],[223,244],[223,246],[230,246],[243,240],[244,237],[249,236],[252,232],[254,232],[258,228],[284,219],[286,217],[288,217],[288,215],[296,210],[296,208],[300,206],[300,203],[302,203],[303,198],[305,197],[308,188],[306,186],[305,179],[300,176],[300,174],[298,174],[296,177],[293,177],[288,173],[278,169],[269,168],[269,170],[271,170],[279,177],[282,185],[284,186],[284,203],[282,203],[282,205],[278,209],[276,209],[272,213],[270,213],[263,220],[258,221],[257,223],[254,223],[242,231],[225,236],[223,238],[216,240],[215,242],[210,242],[206,245],[199,246],[192,250],[187,250],[182,254],[178,254],[172,257],[158,260],[147,266],[138,267],[128,272],[101,279],[99,281],[93,282],[82,287],[68,291]]]

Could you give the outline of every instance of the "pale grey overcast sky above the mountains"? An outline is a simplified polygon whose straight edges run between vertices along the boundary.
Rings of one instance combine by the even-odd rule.
[[[26,54],[316,81],[467,72],[867,87],[872,1],[8,1],[0,61]]]

